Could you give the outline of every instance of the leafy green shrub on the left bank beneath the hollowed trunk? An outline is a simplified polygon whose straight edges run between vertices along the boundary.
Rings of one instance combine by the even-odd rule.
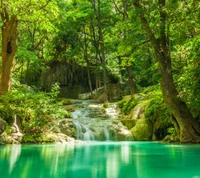
[[[11,125],[16,116],[23,133],[37,137],[67,114],[62,103],[56,100],[57,90],[58,87],[53,87],[50,93],[44,93],[15,83],[11,91],[0,96],[0,117]]]

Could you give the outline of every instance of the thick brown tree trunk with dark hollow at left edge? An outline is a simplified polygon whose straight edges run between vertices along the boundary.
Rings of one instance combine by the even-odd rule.
[[[17,17],[10,19],[2,15],[2,68],[0,94],[6,93],[11,88],[11,75],[14,57],[17,51]]]

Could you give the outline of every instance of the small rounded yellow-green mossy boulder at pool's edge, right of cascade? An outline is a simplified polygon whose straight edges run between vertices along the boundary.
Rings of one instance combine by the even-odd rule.
[[[134,140],[148,141],[152,138],[152,126],[146,119],[139,119],[135,127],[131,129]]]

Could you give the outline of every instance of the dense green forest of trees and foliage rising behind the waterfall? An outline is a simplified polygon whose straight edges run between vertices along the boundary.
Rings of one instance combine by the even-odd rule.
[[[48,124],[53,113],[63,117],[49,106],[62,85],[46,93],[41,81],[51,65],[65,63],[68,71],[84,67],[88,92],[103,86],[104,102],[110,83],[129,86],[133,98],[157,86],[180,141],[200,141],[198,0],[1,0],[0,6],[2,118],[32,122],[38,102],[49,115],[45,120],[40,111],[36,125]]]

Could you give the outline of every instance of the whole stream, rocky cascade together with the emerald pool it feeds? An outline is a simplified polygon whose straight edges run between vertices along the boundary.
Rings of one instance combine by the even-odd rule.
[[[76,139],[87,141],[2,145],[0,178],[200,178],[200,144],[119,141],[132,137],[115,103],[107,109],[92,101],[67,107],[74,108]]]

